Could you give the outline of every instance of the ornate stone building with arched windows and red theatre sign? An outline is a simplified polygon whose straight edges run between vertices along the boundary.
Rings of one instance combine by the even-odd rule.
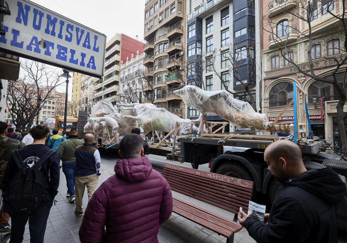
[[[336,16],[341,15],[341,2],[323,0],[300,3],[303,5],[298,5],[294,0],[272,0],[263,1],[262,4],[262,16],[266,16],[262,19],[264,113],[268,114],[270,121],[274,120],[293,99],[295,82],[306,94],[313,134],[340,146],[336,118],[337,90],[331,84],[305,76],[298,68],[309,70],[311,59],[318,77],[333,79],[331,74],[336,70],[334,58],[340,60],[346,56],[342,47],[345,38],[339,20],[328,11]],[[293,13],[303,11],[303,8],[305,14],[299,20]],[[344,80],[343,71],[337,75],[337,79],[340,82]],[[282,121],[292,121],[293,110],[288,109],[283,117]],[[346,116],[345,124],[347,131]]]

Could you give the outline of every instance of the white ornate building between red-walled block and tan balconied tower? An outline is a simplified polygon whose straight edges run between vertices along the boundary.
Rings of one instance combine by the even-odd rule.
[[[119,103],[142,103],[143,86],[146,85],[143,78],[143,58],[146,53],[131,54],[125,63],[120,64],[120,89],[118,91]]]

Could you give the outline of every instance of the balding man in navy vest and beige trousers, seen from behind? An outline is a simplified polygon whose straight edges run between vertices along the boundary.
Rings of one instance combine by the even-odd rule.
[[[76,147],[76,209],[75,214],[83,215],[83,195],[87,186],[88,200],[98,187],[99,175],[101,175],[101,161],[98,148],[100,145],[93,146],[94,135],[89,133],[84,136],[84,144]]]

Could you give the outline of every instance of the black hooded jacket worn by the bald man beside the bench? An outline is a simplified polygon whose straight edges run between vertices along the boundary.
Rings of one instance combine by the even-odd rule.
[[[268,224],[252,217],[245,227],[256,242],[338,242],[336,206],[346,185],[332,168],[311,169],[278,189]]]

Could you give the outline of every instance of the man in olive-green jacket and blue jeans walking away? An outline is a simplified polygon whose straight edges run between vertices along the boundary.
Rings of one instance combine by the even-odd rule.
[[[70,197],[69,202],[75,201],[75,170],[76,170],[76,158],[75,150],[79,145],[83,145],[84,142],[77,137],[77,129],[71,128],[70,136],[68,140],[62,141],[57,149],[57,154],[62,162],[62,170],[66,177],[67,194],[66,197]]]

